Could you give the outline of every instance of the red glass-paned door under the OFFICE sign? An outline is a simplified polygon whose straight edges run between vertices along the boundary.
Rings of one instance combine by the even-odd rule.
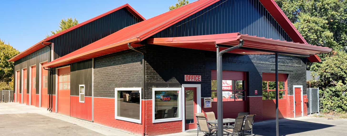
[[[195,129],[196,128],[196,88],[189,87],[184,90],[185,95],[185,129]]]

